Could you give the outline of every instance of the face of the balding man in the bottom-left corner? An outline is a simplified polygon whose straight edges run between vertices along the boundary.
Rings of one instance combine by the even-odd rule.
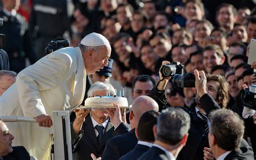
[[[14,136],[9,133],[9,129],[4,122],[0,121],[0,157],[8,155],[12,152],[12,140]]]

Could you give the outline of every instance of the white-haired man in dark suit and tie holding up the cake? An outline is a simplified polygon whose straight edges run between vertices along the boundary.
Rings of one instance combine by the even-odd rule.
[[[114,94],[114,88],[109,83],[96,82],[88,91],[88,96],[106,96],[106,92]],[[106,111],[93,108],[93,110],[75,110],[76,119],[71,127],[73,159],[91,159],[91,154],[101,156],[105,144],[112,136],[125,133],[124,126],[116,126],[110,121]],[[86,117],[87,114],[90,116]],[[85,118],[86,117],[86,118]],[[116,129],[114,129],[116,128]]]

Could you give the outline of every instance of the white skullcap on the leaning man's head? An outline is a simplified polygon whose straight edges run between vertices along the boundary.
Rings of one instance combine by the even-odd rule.
[[[82,39],[81,44],[92,47],[110,45],[109,40],[107,40],[102,34],[95,32],[86,35]]]

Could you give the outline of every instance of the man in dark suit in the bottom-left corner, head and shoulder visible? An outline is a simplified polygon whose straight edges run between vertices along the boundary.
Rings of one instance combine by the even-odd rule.
[[[5,123],[0,120],[0,159],[29,160],[28,151],[22,146],[12,147],[12,140],[14,140],[14,136],[9,132]]]

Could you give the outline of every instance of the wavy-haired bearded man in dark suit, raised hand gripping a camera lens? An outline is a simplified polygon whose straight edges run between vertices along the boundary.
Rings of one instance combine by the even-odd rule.
[[[207,134],[208,134],[208,112],[204,110],[205,104],[201,105],[202,100],[205,102],[209,98],[215,101],[212,104],[218,104],[220,107],[226,107],[228,101],[228,83],[223,76],[220,75],[207,75],[204,71],[194,70],[196,76],[196,106],[190,108],[191,126],[188,132],[186,146],[180,151],[177,159],[203,159],[204,147],[209,147]],[[199,77],[200,75],[200,77]],[[200,81],[199,81],[200,79]],[[207,83],[205,81],[207,79]],[[203,81],[204,80],[204,81]],[[206,88],[206,92],[202,91],[202,83]],[[201,99],[201,97],[203,97]]]

